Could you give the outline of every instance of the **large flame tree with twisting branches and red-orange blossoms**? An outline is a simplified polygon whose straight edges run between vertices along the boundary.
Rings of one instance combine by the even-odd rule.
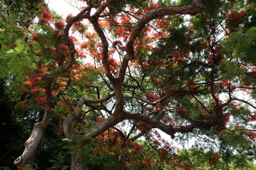
[[[71,169],[90,168],[84,150],[95,152],[92,141],[108,130],[124,140],[113,160],[125,169],[127,143],[140,148],[134,144],[140,136],[168,155],[154,129],[180,143],[197,138],[209,157],[254,158],[253,1],[83,2],[65,22],[38,4],[29,15],[37,22],[22,28],[11,22],[22,16],[13,14],[12,3],[3,6],[8,15],[1,20],[1,76],[8,74],[8,88],[23,97],[20,106],[44,110],[15,160],[19,169],[33,166],[51,115],[60,118]],[[70,29],[81,37],[70,36]]]

